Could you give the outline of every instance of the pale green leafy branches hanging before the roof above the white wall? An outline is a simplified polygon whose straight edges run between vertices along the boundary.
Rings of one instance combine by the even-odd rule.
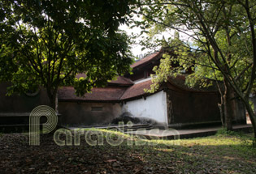
[[[163,48],[163,59],[159,66],[154,67],[155,74],[151,75],[153,84],[150,90],[145,91],[157,91],[161,83],[167,82],[168,78],[176,78],[177,75],[186,75],[185,84],[188,87],[212,85],[212,82],[206,79],[208,78],[206,74],[209,74],[206,69],[209,70],[210,66],[202,65],[202,61],[200,61],[202,55],[195,53],[189,45],[180,40],[178,32],[175,33],[174,39],[169,40],[169,43],[163,41]],[[187,74],[188,70],[192,70],[193,73]]]

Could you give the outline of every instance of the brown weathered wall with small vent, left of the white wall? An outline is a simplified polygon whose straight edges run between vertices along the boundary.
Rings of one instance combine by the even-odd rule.
[[[92,111],[102,107],[102,111]],[[108,125],[122,113],[120,104],[59,102],[63,125]]]

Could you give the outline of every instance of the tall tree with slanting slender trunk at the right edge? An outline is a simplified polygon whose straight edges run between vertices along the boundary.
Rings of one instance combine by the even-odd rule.
[[[196,51],[206,53],[210,65],[223,76],[225,115],[231,112],[230,98],[234,91],[249,112],[256,138],[256,117],[249,105],[249,94],[256,76],[255,2],[153,0],[141,1],[140,8],[141,15],[145,18],[141,24],[152,26],[158,23],[158,26],[162,26],[161,29],[176,30],[189,36],[197,45],[199,43]],[[240,43],[249,48],[247,53]],[[235,46],[239,49],[234,49]],[[241,56],[236,57],[237,55]],[[247,66],[239,66],[239,62]]]

